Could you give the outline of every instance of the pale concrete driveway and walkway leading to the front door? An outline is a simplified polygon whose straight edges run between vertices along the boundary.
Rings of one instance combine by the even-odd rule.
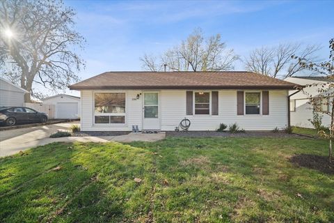
[[[165,132],[157,134],[129,133],[120,136],[108,137],[61,137],[49,138],[50,134],[57,130],[68,130],[74,123],[59,123],[54,125],[43,125],[33,128],[22,128],[0,132],[0,157],[13,155],[36,146],[43,146],[52,142],[81,141],[81,142],[130,142],[130,141],[158,141],[166,137]],[[77,124],[77,123],[76,123]]]

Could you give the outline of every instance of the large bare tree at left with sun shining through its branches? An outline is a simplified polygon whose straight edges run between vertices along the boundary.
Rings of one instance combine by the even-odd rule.
[[[0,0],[0,61],[5,77],[29,91],[33,83],[61,90],[79,77],[84,62],[75,53],[84,38],[72,29],[75,13],[57,0]]]

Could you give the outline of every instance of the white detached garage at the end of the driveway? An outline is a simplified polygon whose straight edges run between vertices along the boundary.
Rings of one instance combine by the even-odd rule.
[[[59,94],[42,100],[43,105],[54,105],[54,118],[80,117],[80,98],[72,95]]]

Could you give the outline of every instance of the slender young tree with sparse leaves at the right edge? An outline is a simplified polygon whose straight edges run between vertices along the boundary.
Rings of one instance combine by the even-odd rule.
[[[334,139],[334,38],[329,41],[329,60],[321,63],[316,63],[305,59],[303,56],[295,56],[292,55],[292,59],[296,60],[299,63],[299,66],[302,68],[312,70],[315,72],[319,72],[321,75],[325,75],[328,79],[326,84],[307,84],[306,87],[312,86],[317,87],[318,95],[311,95],[303,88],[299,88],[299,90],[303,91],[305,95],[308,95],[309,104],[313,106],[315,109],[314,112],[318,112],[321,114],[326,114],[331,117],[331,124],[329,125],[329,132],[324,130],[319,130],[319,134],[326,139],[329,139],[329,149],[328,149],[328,157],[329,162],[331,162],[333,158],[333,139]],[[328,89],[324,88],[324,86],[328,86]],[[328,109],[322,109],[326,107]]]

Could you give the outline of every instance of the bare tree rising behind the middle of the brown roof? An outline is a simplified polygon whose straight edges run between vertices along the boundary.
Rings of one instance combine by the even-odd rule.
[[[239,56],[233,49],[227,49],[222,42],[221,35],[211,36],[205,39],[201,29],[196,29],[180,45],[168,49],[161,54],[160,61],[157,57],[145,54],[141,61],[145,70],[161,70],[166,64],[169,70],[179,71],[207,71],[207,70],[233,70],[234,61]]]

